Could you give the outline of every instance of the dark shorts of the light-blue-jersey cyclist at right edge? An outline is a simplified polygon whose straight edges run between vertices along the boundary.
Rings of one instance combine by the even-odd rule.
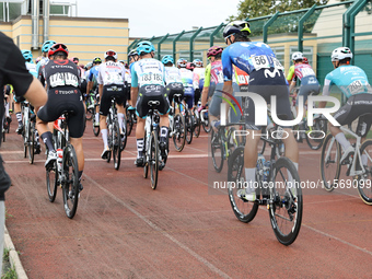
[[[334,118],[341,126],[350,125],[358,117],[357,135],[365,137],[372,123],[372,94],[362,93],[349,97],[334,114]]]

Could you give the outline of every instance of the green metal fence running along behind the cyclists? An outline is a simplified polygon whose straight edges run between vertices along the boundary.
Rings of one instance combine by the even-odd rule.
[[[251,23],[252,40],[270,45],[278,59],[289,69],[291,54],[303,51],[317,78],[323,82],[333,70],[330,53],[339,46],[350,47],[354,54],[352,63],[365,70],[372,79],[372,1],[351,0],[326,5],[313,5],[292,12],[246,19]],[[212,45],[224,45],[222,37],[225,23],[218,26],[182,31],[176,34],[136,39],[128,53],[140,40],[151,40],[156,48],[158,59],[173,55],[176,60],[199,58],[207,62],[206,53]]]

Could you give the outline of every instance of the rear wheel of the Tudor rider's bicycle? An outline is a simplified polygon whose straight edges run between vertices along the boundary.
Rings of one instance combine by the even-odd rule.
[[[63,174],[62,182],[65,212],[72,219],[77,213],[79,201],[79,166],[77,153],[71,144],[63,151]]]

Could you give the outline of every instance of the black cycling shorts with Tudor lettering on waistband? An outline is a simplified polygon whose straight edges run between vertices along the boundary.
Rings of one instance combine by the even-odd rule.
[[[85,109],[78,89],[50,89],[48,101],[40,107],[37,116],[45,123],[51,123],[57,120],[63,112],[73,112],[68,118],[69,133],[71,138],[81,138],[84,133]]]

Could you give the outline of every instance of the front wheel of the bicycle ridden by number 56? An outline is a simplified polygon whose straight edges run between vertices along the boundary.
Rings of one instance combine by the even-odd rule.
[[[237,197],[237,190],[243,188],[244,181],[244,148],[239,147],[234,150],[229,160],[228,171],[228,191],[233,212],[239,221],[251,222],[257,214],[258,202],[246,201]],[[240,182],[240,184],[237,183]],[[235,185],[233,185],[235,183]],[[237,184],[237,187],[236,187]],[[241,187],[239,187],[241,186]]]

